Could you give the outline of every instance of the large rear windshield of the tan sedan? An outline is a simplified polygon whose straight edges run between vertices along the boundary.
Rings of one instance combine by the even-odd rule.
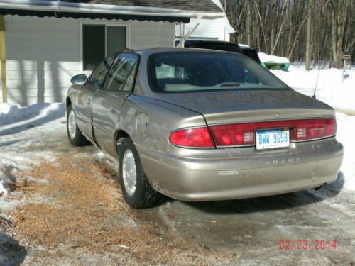
[[[287,89],[277,77],[243,55],[227,52],[161,52],[148,58],[153,92]]]

